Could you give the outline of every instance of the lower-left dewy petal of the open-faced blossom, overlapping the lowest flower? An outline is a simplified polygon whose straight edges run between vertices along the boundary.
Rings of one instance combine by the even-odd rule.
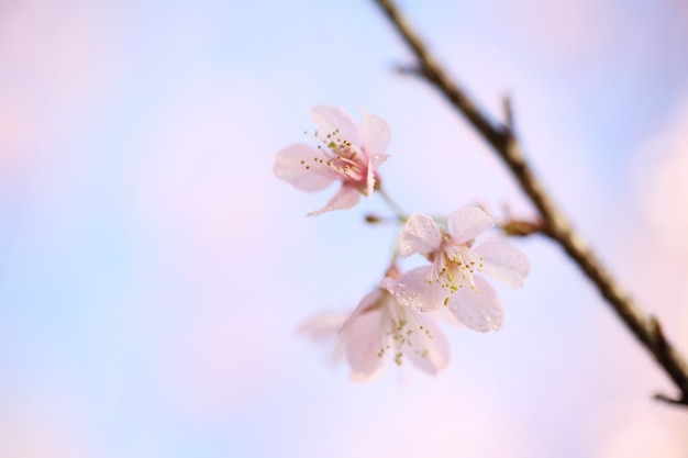
[[[430,269],[422,266],[401,275],[391,291],[400,305],[429,312],[444,304],[446,290],[437,282],[428,282]]]

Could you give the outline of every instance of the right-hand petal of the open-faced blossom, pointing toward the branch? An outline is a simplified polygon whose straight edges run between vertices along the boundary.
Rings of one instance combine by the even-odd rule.
[[[482,257],[482,273],[503,281],[512,288],[522,288],[531,265],[519,248],[501,238],[484,241],[473,252]]]

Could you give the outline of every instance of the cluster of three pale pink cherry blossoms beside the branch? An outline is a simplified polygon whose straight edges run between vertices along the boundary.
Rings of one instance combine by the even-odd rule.
[[[330,202],[309,216],[351,209],[362,194],[381,191],[378,168],[389,157],[384,154],[388,124],[364,111],[358,126],[333,107],[315,107],[311,115],[319,127],[317,147],[297,144],[281,149],[274,167],[278,178],[308,192],[341,182]],[[378,373],[388,356],[398,365],[409,360],[436,375],[450,358],[437,320],[478,332],[500,329],[503,308],[484,276],[521,288],[530,270],[525,255],[503,239],[477,239],[496,224],[478,206],[459,208],[442,220],[424,213],[397,216],[404,225],[378,287],[348,316],[322,314],[301,326],[317,339],[335,337],[357,380]],[[401,272],[397,254],[421,255],[429,264]]]

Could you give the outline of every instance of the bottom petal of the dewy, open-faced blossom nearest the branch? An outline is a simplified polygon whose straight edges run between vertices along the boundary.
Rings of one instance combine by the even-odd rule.
[[[458,321],[481,333],[499,331],[503,320],[503,308],[495,290],[479,276],[473,277],[478,292],[470,288],[459,288],[450,298],[450,309]]]

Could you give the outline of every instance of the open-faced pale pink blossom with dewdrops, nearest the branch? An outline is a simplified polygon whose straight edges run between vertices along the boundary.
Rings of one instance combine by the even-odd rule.
[[[411,215],[399,237],[399,252],[404,257],[422,254],[432,265],[401,276],[391,290],[399,303],[421,311],[446,306],[475,331],[501,328],[501,302],[480,273],[521,288],[530,262],[518,248],[499,238],[474,246],[476,236],[493,224],[495,220],[478,206],[452,213],[448,232],[424,213]]]

